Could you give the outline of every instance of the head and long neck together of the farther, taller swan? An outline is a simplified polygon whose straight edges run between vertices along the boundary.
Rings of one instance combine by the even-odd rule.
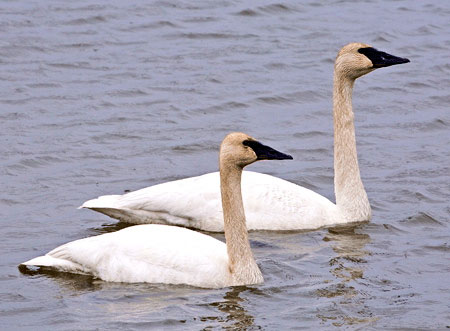
[[[355,80],[373,70],[409,60],[380,52],[370,45],[351,43],[338,53],[334,64],[334,190],[338,214],[349,221],[368,221],[371,208],[361,180],[352,92]]]

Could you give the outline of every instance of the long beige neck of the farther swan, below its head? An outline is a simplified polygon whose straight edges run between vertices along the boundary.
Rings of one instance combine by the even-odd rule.
[[[352,92],[355,83],[335,71],[333,89],[334,187],[336,205],[351,221],[370,219],[370,204],[364,189],[356,151]]]

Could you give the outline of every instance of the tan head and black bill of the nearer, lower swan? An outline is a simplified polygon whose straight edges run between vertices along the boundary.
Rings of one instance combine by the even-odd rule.
[[[292,160],[292,156],[261,144],[255,138],[241,132],[228,134],[220,145],[220,165],[236,165],[243,168],[259,160]]]

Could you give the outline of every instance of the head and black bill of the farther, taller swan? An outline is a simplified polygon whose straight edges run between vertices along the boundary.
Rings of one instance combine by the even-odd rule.
[[[334,65],[335,72],[356,79],[378,68],[408,63],[409,60],[394,56],[363,43],[351,43],[341,48]]]

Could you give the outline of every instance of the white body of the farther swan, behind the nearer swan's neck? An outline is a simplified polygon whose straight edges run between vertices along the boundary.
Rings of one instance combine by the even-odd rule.
[[[219,172],[213,172],[124,195],[102,196],[82,207],[127,223],[222,232],[219,181]],[[336,205],[320,194],[262,173],[243,172],[242,196],[249,230],[313,229],[346,220],[337,217]]]

